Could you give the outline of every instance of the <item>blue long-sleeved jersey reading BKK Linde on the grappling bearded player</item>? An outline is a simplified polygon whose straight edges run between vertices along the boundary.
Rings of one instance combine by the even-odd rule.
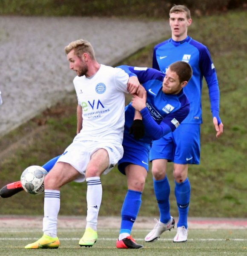
[[[119,66],[129,74],[137,76],[146,89],[146,107],[141,110],[145,135],[140,141],[150,143],[169,132],[174,131],[187,117],[190,111],[189,101],[183,89],[177,95],[162,92],[165,74],[151,68]],[[130,103],[125,107],[124,133],[129,136],[129,128],[133,123],[135,109]],[[132,135],[131,135],[132,136]]]

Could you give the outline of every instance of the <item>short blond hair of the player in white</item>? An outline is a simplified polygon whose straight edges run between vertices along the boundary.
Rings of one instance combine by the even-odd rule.
[[[77,55],[78,57],[80,57],[84,52],[86,52],[92,58],[92,60],[95,60],[94,49],[91,43],[89,43],[88,41],[79,39],[69,43],[64,48],[66,55],[73,49],[75,50],[75,55]]]

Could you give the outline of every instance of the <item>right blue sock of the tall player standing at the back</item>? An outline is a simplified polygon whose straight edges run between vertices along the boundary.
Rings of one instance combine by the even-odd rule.
[[[190,181],[187,178],[181,183],[175,181],[175,197],[178,205],[178,227],[184,226],[188,228],[187,216],[190,204]]]

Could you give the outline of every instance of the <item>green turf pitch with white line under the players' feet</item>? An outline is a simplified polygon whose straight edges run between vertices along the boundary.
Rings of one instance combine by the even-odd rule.
[[[91,248],[80,247],[78,242],[83,235],[80,229],[59,229],[60,247],[57,250],[26,250],[26,244],[35,242],[41,236],[40,229],[9,230],[0,229],[1,256],[244,256],[247,255],[246,230],[190,230],[186,243],[173,243],[175,230],[165,232],[161,238],[152,243],[144,242],[149,230],[134,230],[132,236],[144,248],[139,250],[119,250],[115,247],[118,237],[116,229],[98,230],[98,241]]]

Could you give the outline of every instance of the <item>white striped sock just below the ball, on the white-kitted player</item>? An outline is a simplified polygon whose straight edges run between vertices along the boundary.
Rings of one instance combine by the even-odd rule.
[[[60,210],[60,191],[45,190],[43,232],[57,237],[57,215]]]

